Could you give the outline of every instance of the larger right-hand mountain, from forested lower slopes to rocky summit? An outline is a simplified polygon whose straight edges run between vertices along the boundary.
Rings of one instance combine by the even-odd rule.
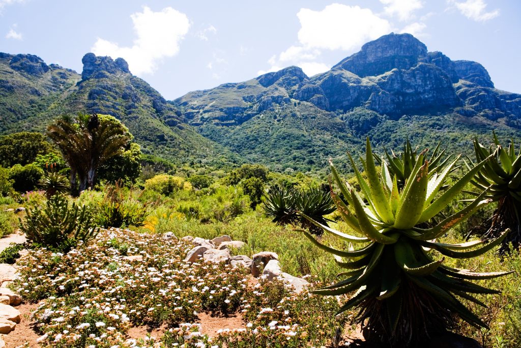
[[[428,52],[411,34],[384,35],[326,73],[288,67],[254,79],[189,92],[173,101],[201,134],[277,170],[345,163],[365,136],[380,148],[405,137],[465,151],[475,135],[521,127],[521,95],[494,88],[476,62]]]

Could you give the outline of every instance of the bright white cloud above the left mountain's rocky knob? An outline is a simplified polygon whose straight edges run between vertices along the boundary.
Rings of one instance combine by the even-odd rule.
[[[137,35],[131,47],[98,38],[91,50],[96,55],[125,58],[136,75],[151,74],[161,59],[178,54],[179,44],[190,28],[187,15],[171,7],[153,12],[144,6],[143,12],[130,18]]]

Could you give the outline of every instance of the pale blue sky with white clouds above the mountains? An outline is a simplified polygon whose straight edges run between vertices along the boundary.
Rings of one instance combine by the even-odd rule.
[[[122,57],[172,100],[291,65],[312,76],[408,32],[521,93],[520,16],[518,0],[0,0],[0,52],[79,73],[85,53]]]

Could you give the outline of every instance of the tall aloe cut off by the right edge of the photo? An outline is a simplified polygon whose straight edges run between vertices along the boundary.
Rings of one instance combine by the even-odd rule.
[[[505,229],[511,230],[500,248],[500,253],[504,254],[510,250],[511,243],[515,249],[521,246],[521,149],[516,154],[513,140],[508,148],[504,148],[495,133],[493,138],[494,142],[488,149],[474,139],[476,159],[482,161],[491,157],[491,160],[476,174],[472,183],[480,191],[490,186],[486,197],[498,203],[498,209],[486,222],[483,237],[497,238]],[[479,195],[472,191],[469,193]]]

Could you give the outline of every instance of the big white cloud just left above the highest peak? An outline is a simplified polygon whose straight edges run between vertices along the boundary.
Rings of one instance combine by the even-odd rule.
[[[387,34],[392,27],[368,8],[331,4],[321,11],[301,8],[300,43],[308,48],[353,50]]]

